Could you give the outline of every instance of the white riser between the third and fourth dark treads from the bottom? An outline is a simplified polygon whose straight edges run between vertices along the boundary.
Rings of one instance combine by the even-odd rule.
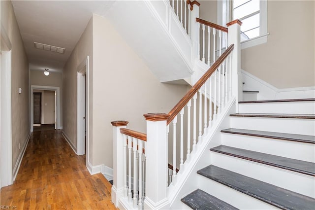
[[[221,134],[222,144],[292,159],[315,162],[315,144],[238,134]]]

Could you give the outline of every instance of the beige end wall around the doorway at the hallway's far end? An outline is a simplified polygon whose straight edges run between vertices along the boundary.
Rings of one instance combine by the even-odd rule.
[[[43,71],[31,70],[31,85],[52,86],[60,88],[60,117],[63,119],[63,74],[61,72],[50,72],[48,76],[45,76]],[[49,120],[49,122],[51,122],[51,120]],[[61,120],[60,126],[63,126],[63,120]]]

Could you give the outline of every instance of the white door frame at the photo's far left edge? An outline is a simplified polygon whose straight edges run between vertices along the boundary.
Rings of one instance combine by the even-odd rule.
[[[11,75],[12,75],[12,45],[1,23],[0,36],[5,49],[1,53],[4,63],[0,71],[0,187],[13,183],[12,169],[12,101],[11,101]]]

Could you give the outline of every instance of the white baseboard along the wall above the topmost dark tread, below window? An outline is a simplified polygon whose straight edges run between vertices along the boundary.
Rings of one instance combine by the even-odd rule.
[[[279,89],[245,70],[241,70],[241,73],[245,82],[244,90],[259,91],[257,100],[315,98],[315,87]]]

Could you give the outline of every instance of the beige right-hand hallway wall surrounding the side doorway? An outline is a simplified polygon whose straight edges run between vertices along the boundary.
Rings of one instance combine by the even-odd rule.
[[[63,132],[75,148],[77,147],[77,72],[78,66],[82,62],[86,62],[87,56],[90,56],[90,70],[91,73],[93,72],[92,27],[93,24],[91,18],[69,59],[63,67]],[[90,77],[90,83],[93,83],[92,77]],[[93,89],[90,88],[91,98],[93,97],[92,90]],[[92,103],[90,104],[90,107],[92,107]],[[90,118],[92,118],[92,108],[90,108],[89,112],[91,116]],[[90,123],[90,127],[91,126],[93,126],[92,123]],[[91,132],[89,135],[90,139],[92,139],[93,136]]]

